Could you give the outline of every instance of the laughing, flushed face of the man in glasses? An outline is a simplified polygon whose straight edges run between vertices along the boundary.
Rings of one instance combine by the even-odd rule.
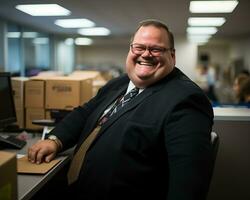
[[[144,45],[151,50],[167,49],[160,55],[154,55],[154,50],[150,52],[148,49],[138,55],[130,48],[126,60],[126,71],[137,87],[145,88],[159,81],[174,68],[175,52],[169,50],[170,44],[166,30],[154,26],[141,27],[136,32],[132,44]]]

